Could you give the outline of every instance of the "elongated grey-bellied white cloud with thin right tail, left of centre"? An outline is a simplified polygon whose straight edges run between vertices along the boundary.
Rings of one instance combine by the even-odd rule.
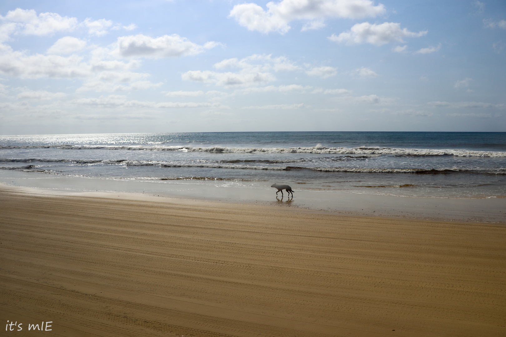
[[[217,42],[198,45],[178,34],[163,35],[156,38],[138,34],[118,37],[117,48],[114,53],[125,58],[161,59],[199,54],[204,49],[210,49],[216,45],[218,45]]]

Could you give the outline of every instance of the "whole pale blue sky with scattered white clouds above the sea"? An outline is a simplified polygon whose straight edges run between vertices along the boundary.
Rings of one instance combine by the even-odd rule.
[[[0,134],[506,131],[506,2],[0,3]]]

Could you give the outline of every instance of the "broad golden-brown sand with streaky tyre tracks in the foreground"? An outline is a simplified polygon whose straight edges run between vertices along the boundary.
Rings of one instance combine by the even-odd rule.
[[[0,187],[6,334],[506,334],[505,224],[115,196]]]

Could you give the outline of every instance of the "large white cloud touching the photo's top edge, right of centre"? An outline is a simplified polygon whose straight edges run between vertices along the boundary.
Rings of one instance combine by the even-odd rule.
[[[254,3],[235,5],[229,17],[249,30],[284,34],[293,20],[310,21],[303,28],[307,30],[322,27],[325,18],[360,19],[385,13],[385,6],[374,6],[369,0],[282,0],[268,3],[267,8],[265,11]]]

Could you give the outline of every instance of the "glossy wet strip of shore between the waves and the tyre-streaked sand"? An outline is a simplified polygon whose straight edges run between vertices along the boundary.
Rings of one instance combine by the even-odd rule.
[[[108,180],[107,182],[110,184],[108,187],[117,188],[117,190],[107,191],[63,189],[62,187],[65,186],[64,184],[68,183],[67,180],[64,180],[60,185],[56,185],[54,188],[48,188],[48,184],[44,186],[46,188],[15,186],[9,185],[5,181],[6,179],[0,179],[0,190],[12,188],[41,195],[88,196],[129,200],[156,200],[162,202],[186,200],[193,202],[217,202],[229,203],[231,205],[260,205],[271,207],[284,206],[293,209],[306,209],[315,212],[323,211],[351,216],[381,216],[437,221],[506,224],[506,198],[416,198],[311,190],[305,190],[303,192],[299,190],[299,193],[296,192],[294,198],[280,198],[275,196],[274,188],[220,188],[211,184],[158,184],[155,185],[157,188],[151,186],[151,188],[146,191],[139,190],[133,192],[131,181]],[[87,182],[88,181],[82,182],[80,188],[85,186]],[[79,188],[79,185],[77,185],[77,188]]]

